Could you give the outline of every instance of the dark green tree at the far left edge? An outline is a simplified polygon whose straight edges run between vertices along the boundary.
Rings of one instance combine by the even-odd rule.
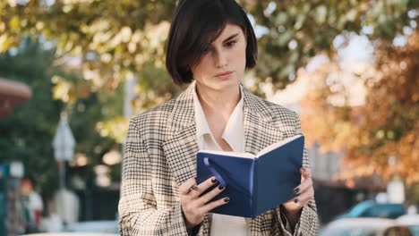
[[[56,126],[51,124],[58,123],[64,106],[52,100],[52,83],[47,76],[54,53],[53,50],[42,50],[38,42],[27,38],[18,50],[0,55],[0,76],[27,83],[33,91],[27,104],[16,108],[0,122],[0,160],[21,161],[25,166],[25,177],[35,181],[47,195],[51,195],[58,185],[51,147]],[[45,186],[50,188],[45,189]]]

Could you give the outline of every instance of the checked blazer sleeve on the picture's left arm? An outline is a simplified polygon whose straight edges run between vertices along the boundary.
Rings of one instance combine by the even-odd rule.
[[[119,230],[123,236],[188,235],[179,202],[160,208],[153,194],[150,156],[136,120],[125,142]]]

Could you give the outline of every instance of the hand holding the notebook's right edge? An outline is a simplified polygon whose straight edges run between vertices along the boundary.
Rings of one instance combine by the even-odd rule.
[[[301,168],[301,184],[298,185],[294,192],[297,195],[295,198],[284,203],[286,215],[299,214],[303,206],[314,197],[314,189],[312,188],[312,170],[309,168]]]

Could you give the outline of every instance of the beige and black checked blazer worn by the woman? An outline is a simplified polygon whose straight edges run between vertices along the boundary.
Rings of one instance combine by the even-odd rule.
[[[195,158],[199,147],[193,89],[192,83],[179,97],[130,121],[118,206],[121,235],[188,235],[178,190],[184,181],[196,177]],[[254,96],[247,89],[242,91],[246,152],[256,154],[272,143],[301,134],[297,114]],[[303,165],[309,167],[305,148]],[[198,235],[209,235],[210,220],[209,213]],[[291,235],[281,221],[279,206],[251,219],[249,224],[252,236]],[[317,235],[318,227],[312,198],[303,207],[294,235]]]

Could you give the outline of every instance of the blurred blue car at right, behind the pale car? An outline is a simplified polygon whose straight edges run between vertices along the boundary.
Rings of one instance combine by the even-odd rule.
[[[367,200],[352,207],[346,214],[338,215],[336,219],[374,217],[396,219],[400,215],[406,214],[406,207],[403,204],[377,203]]]

